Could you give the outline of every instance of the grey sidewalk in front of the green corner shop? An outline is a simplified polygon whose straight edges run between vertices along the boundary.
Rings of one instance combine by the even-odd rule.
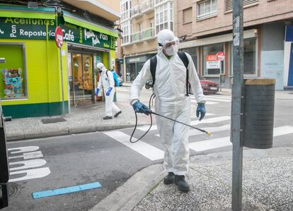
[[[125,98],[125,99],[124,99]],[[117,118],[103,120],[105,114],[105,102],[97,102],[84,107],[71,108],[70,114],[65,116],[42,116],[32,118],[13,119],[6,122],[6,137],[8,141],[30,138],[45,138],[57,135],[69,135],[73,133],[88,133],[96,131],[108,131],[119,128],[134,128],[135,115],[128,98],[118,96],[115,104],[122,110]],[[149,124],[149,116],[138,114],[139,125]],[[65,121],[57,123],[43,123],[56,118]]]

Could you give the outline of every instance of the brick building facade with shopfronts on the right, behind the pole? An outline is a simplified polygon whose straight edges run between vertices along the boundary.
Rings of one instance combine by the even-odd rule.
[[[233,80],[232,0],[182,0],[175,5],[180,49],[190,53],[200,76],[224,87]],[[293,88],[292,0],[243,0],[244,77],[275,78],[276,89]],[[221,63],[214,61],[224,52]]]

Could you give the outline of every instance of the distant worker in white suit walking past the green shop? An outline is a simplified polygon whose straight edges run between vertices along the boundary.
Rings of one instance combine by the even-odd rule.
[[[112,119],[112,112],[114,117],[117,117],[122,111],[114,104],[114,87],[115,82],[113,78],[113,73],[108,71],[103,63],[97,64],[98,73],[100,73],[100,79],[98,81],[98,88],[96,88],[95,95],[100,92],[100,87],[103,86],[105,93],[105,116],[103,119]]]

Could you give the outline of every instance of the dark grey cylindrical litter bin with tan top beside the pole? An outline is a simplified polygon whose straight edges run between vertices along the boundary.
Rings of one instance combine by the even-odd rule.
[[[244,147],[272,147],[275,79],[246,79],[244,91]]]

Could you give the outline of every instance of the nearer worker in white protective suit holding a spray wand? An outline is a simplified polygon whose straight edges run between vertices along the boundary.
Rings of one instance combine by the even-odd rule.
[[[159,52],[156,54],[156,80],[154,83],[154,94],[156,95],[156,113],[190,124],[190,97],[186,96],[186,68],[178,56],[178,38],[171,30],[161,30],[157,39]],[[189,83],[197,100],[197,117],[202,120],[205,116],[205,96],[203,95],[200,80],[197,76],[193,59],[189,54],[188,73]],[[149,114],[149,108],[139,102],[139,93],[145,85],[146,80],[152,78],[150,71],[150,59],[146,61],[137,78],[132,83],[130,90],[130,103],[134,111]],[[189,191],[189,185],[185,181],[188,173],[189,127],[183,124],[166,120],[156,116],[160,138],[165,147],[164,168],[168,175],[163,183],[176,183],[180,191]]]

